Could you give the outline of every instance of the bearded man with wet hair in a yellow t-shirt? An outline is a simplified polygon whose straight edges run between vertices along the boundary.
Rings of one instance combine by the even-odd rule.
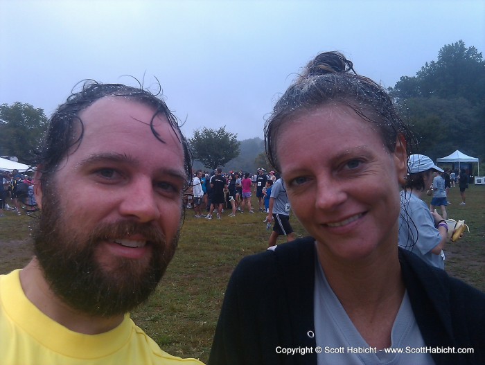
[[[175,253],[191,154],[149,91],[86,82],[51,117],[35,175],[33,260],[0,276],[1,364],[202,364],[128,312]]]

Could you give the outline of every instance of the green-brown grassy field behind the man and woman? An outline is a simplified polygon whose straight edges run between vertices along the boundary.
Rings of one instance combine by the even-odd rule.
[[[485,291],[485,186],[470,185],[466,195],[466,206],[459,205],[458,188],[452,188],[448,197],[452,202],[448,217],[464,219],[470,233],[446,246],[446,271]],[[224,211],[222,220],[204,220],[187,211],[179,248],[166,276],[148,303],[132,313],[134,321],[172,355],[207,361],[233,268],[244,256],[267,247],[270,231],[263,213],[227,217],[229,213]],[[6,215],[0,218],[0,274],[24,266],[31,256],[31,218]],[[292,225],[297,237],[306,235],[294,217]]]

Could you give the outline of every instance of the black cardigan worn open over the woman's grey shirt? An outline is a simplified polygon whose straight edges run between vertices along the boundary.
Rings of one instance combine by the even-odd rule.
[[[485,364],[485,294],[399,249],[403,280],[426,346],[474,348],[432,354],[436,364]],[[313,348],[313,238],[281,244],[241,260],[233,272],[215,331],[209,365],[317,364]],[[310,331],[310,332],[309,332]]]

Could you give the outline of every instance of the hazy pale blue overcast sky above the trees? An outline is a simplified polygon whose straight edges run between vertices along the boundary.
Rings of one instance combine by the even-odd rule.
[[[485,1],[0,0],[0,104],[51,116],[80,80],[157,78],[186,136],[226,125],[243,140],[321,51],[394,87],[459,39],[485,51]]]

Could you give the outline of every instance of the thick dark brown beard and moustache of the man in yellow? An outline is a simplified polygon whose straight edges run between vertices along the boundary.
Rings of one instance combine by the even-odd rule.
[[[153,224],[121,220],[100,223],[85,232],[82,222],[75,222],[76,211],[65,215],[56,189],[48,190],[53,191],[49,202],[43,199],[33,238],[35,256],[55,295],[74,310],[100,317],[124,314],[148,299],[173,258],[179,231],[166,242]],[[98,244],[130,235],[142,235],[151,245],[150,262],[113,257],[114,265],[100,265],[95,255]]]

